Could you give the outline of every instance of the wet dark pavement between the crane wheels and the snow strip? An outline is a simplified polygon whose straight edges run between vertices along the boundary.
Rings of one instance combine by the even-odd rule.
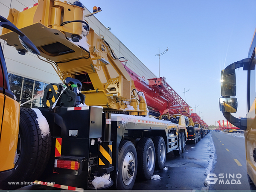
[[[186,144],[186,152],[175,156],[167,154],[165,167],[168,170],[155,171],[161,180],[136,180],[134,190],[201,190],[204,187],[204,175],[212,156],[211,134],[196,145]]]

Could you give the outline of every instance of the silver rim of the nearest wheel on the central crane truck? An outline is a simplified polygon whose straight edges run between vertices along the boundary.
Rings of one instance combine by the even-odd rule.
[[[135,157],[132,152],[128,152],[125,155],[124,161],[122,163],[122,179],[125,185],[131,184],[134,177],[135,167]]]

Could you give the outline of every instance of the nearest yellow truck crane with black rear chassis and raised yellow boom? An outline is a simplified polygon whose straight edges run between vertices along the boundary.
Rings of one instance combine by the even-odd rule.
[[[39,0],[22,12],[10,9],[9,25],[27,35],[39,50],[38,58],[52,64],[62,83],[47,85],[43,108],[20,109],[18,134],[18,104],[8,98],[9,88],[0,81],[4,90],[1,102],[6,102],[1,106],[5,110],[9,102],[16,106],[7,111],[15,111],[14,117],[1,126],[1,150],[11,149],[2,153],[0,175],[6,176],[0,180],[1,189],[34,180],[71,190],[103,189],[113,184],[117,189],[132,189],[136,177],[148,180],[154,169],[163,169],[166,153],[185,151],[186,118],[176,114],[172,122],[147,117],[145,95],[136,89],[106,39],[84,20],[100,11],[97,8],[83,15],[80,2],[59,0]],[[3,29],[0,38],[20,54],[27,52],[15,30]],[[6,67],[1,70],[7,82]],[[12,132],[6,128],[10,122]],[[9,165],[2,164],[6,158]],[[98,177],[107,182],[97,186]],[[20,183],[9,185],[12,181]]]

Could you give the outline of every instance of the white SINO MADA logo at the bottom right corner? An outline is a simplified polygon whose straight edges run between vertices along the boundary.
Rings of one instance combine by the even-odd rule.
[[[218,174],[218,177],[215,173],[210,173],[206,177],[206,181],[209,185],[215,185],[217,184],[222,184],[222,185],[241,185],[241,179],[242,175],[240,173],[238,174],[224,174],[220,173]]]

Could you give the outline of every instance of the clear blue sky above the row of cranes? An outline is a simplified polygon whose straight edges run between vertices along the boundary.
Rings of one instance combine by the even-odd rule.
[[[256,28],[255,0],[81,0],[137,58],[192,106],[208,125],[224,119],[219,111],[220,74],[247,58]],[[238,111],[246,116],[246,73],[237,71]]]

